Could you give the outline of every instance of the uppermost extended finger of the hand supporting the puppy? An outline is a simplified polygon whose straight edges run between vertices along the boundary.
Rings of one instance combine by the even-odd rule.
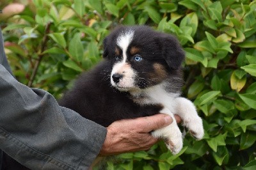
[[[173,119],[166,114],[155,114],[138,118],[137,120],[142,132],[151,132],[152,130],[166,127],[173,122]]]

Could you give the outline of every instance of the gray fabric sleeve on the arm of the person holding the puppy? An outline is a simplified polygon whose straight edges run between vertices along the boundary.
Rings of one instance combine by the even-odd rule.
[[[1,55],[1,150],[31,169],[87,169],[99,154],[106,128],[60,107],[46,91],[17,82]]]

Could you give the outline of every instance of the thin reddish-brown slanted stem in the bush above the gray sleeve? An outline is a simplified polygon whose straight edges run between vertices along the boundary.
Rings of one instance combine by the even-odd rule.
[[[35,79],[35,75],[36,75],[36,72],[38,70],[38,66],[40,65],[40,62],[44,56],[44,54],[42,54],[45,50],[45,47],[46,47],[46,43],[47,43],[47,40],[48,40],[48,33],[50,31],[50,26],[51,26],[51,22],[47,23],[47,25],[45,26],[45,32],[44,32],[44,37],[43,37],[43,40],[42,40],[42,43],[41,43],[41,51],[40,51],[40,54],[38,54],[38,58],[36,59],[36,63],[35,63],[35,66],[33,68],[33,72],[32,72],[32,75],[29,79],[29,82],[28,82],[28,86],[29,88],[31,88],[32,84],[33,84],[33,81]]]

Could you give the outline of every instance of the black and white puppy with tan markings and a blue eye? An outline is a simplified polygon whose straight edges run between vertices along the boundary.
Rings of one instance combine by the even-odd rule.
[[[104,61],[77,79],[60,105],[108,127],[113,121],[168,114],[173,123],[152,132],[173,154],[182,149],[182,133],[173,117],[202,139],[204,128],[195,106],[180,97],[184,51],[177,39],[148,26],[120,26],[104,40]]]

